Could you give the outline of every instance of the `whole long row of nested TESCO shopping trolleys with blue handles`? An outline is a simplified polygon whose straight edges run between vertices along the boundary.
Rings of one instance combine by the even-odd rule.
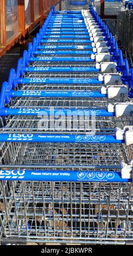
[[[52,7],[1,89],[1,244],[132,243],[132,82],[91,6]]]

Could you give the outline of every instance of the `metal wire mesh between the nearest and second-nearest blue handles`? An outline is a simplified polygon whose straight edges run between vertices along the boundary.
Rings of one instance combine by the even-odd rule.
[[[65,166],[66,168],[87,168],[90,166],[119,168],[119,162],[130,163],[133,156],[132,147],[116,144],[84,144],[84,143],[1,143],[0,162],[4,166],[24,165]],[[3,168],[4,168],[3,166]]]

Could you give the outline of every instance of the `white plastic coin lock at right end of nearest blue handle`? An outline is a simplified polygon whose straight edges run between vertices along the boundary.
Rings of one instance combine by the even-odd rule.
[[[130,164],[121,162],[121,176],[122,179],[133,179],[133,160]]]

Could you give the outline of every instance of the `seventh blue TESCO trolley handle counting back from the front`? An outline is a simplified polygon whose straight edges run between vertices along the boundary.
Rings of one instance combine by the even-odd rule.
[[[58,57],[28,57],[28,62],[95,62],[94,59],[89,57],[68,57],[68,58],[58,58]]]

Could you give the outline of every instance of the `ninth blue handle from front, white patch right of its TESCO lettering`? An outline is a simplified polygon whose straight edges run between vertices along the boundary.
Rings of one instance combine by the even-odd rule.
[[[65,50],[80,50],[80,48],[85,49],[85,50],[90,50],[92,49],[93,47],[91,45],[83,45],[83,46],[80,46],[80,45],[41,45],[41,46],[37,46],[37,50],[43,50],[43,49],[65,49]]]

